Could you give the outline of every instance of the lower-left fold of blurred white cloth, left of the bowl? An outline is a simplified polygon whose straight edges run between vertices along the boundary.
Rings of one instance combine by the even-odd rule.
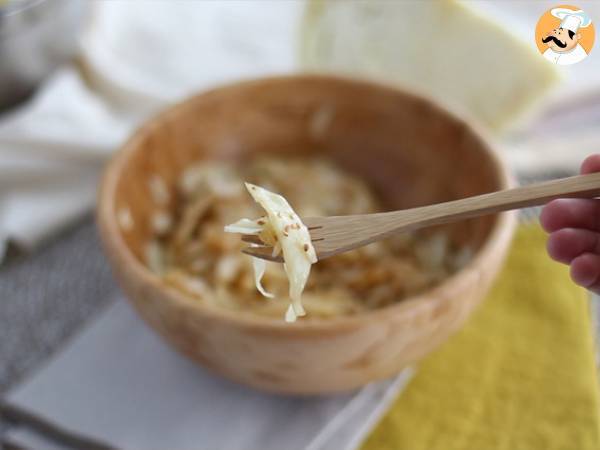
[[[0,261],[7,240],[32,247],[89,211],[104,161],[134,123],[72,68],[0,122]]]

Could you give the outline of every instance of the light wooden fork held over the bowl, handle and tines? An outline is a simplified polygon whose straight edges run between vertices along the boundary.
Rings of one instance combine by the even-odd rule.
[[[395,233],[543,205],[557,198],[597,196],[600,196],[600,173],[593,173],[419,208],[352,216],[307,217],[302,222],[308,227],[317,258],[321,260],[385,239]],[[262,244],[257,236],[243,235],[242,240]],[[242,252],[269,261],[283,262],[281,255],[271,255],[272,250],[272,247],[263,245],[248,247]]]

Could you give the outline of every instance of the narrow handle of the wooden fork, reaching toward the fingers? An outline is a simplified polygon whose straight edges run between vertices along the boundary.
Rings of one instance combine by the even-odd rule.
[[[593,173],[530,184],[436,205],[383,213],[381,216],[397,214],[396,229],[414,229],[528,206],[539,206],[557,198],[594,198],[598,196],[600,196],[600,173]],[[388,217],[387,219],[391,221],[392,218]]]

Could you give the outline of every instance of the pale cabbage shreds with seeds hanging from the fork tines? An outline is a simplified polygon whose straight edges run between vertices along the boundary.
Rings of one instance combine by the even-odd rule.
[[[241,219],[234,224],[227,225],[225,231],[258,236],[266,245],[273,246],[273,255],[276,256],[279,252],[283,252],[285,261],[283,267],[290,283],[291,299],[285,320],[294,322],[297,317],[306,314],[302,307],[302,291],[310,274],[310,266],[317,262],[317,254],[311,243],[310,233],[281,195],[250,183],[246,183],[246,189],[267,212],[267,216],[255,220]],[[266,292],[261,284],[266,262],[259,258],[253,258],[253,267],[256,288],[265,297],[272,297],[272,294]]]

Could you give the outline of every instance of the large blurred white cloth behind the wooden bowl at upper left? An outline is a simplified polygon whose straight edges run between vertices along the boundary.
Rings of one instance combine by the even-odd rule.
[[[93,2],[85,67],[0,118],[0,261],[89,211],[103,163],[146,117],[192,92],[295,68],[303,3]]]

